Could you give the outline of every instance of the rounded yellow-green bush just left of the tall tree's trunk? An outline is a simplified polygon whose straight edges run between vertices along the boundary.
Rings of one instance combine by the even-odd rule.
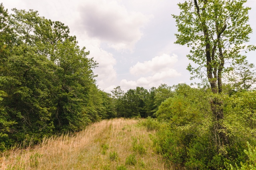
[[[158,120],[170,120],[174,126],[182,126],[199,123],[207,118],[204,113],[210,112],[210,105],[204,90],[180,84],[175,91],[175,96],[162,102],[156,111],[155,115]]]

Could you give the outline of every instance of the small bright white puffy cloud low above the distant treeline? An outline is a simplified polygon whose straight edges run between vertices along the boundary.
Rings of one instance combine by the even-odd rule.
[[[175,54],[172,56],[167,54],[156,56],[150,61],[144,61],[144,63],[138,62],[130,68],[130,73],[136,76],[147,73],[157,73],[160,71],[176,74],[175,70],[170,70],[170,67],[177,63],[177,58],[178,56]]]

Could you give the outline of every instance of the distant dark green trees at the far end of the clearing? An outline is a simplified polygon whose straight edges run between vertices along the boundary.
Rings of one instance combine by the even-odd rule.
[[[129,89],[126,93],[120,86],[112,90],[113,104],[118,117],[155,117],[158,106],[173,96],[171,87],[161,84],[158,88],[152,87],[149,91],[143,87]]]

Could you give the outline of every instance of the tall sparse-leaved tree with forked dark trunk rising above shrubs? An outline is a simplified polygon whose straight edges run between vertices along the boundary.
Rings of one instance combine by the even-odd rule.
[[[225,62],[239,63],[246,58],[241,55],[242,50],[255,50],[254,45],[245,45],[252,33],[252,28],[247,23],[250,8],[244,7],[245,2],[246,0],[185,0],[178,4],[180,15],[173,15],[179,31],[175,34],[175,43],[190,47],[187,57],[197,65],[193,68],[189,64],[187,69],[199,76],[206,69],[204,74],[214,94],[222,92]],[[220,148],[228,144],[228,136],[221,123],[224,118],[223,102],[216,95],[210,102],[214,140]]]

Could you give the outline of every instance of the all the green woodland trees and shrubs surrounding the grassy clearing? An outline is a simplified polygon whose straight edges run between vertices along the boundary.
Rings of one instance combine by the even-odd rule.
[[[102,119],[147,118],[148,130],[158,131],[156,152],[172,167],[256,169],[256,72],[241,55],[256,47],[245,45],[252,33],[245,2],[178,4],[176,43],[191,48],[187,57],[196,66],[188,70],[202,80],[197,88],[118,86],[111,94],[97,87],[97,63],[68,26],[33,10],[8,14],[1,4],[0,152]]]

